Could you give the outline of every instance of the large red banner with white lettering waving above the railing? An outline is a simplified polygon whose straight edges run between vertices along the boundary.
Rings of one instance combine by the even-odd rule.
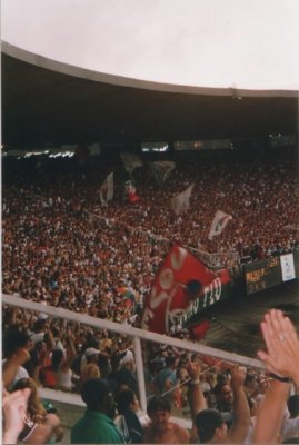
[[[155,277],[147,298],[141,328],[167,334],[180,319],[185,323],[221,298],[228,273],[218,275],[185,247],[173,245]]]

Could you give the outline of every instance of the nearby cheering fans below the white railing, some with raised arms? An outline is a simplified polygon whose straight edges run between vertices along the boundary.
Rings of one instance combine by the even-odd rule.
[[[61,386],[53,363],[43,364],[47,357],[53,362],[57,352],[69,360],[74,326],[66,326],[66,337],[54,340],[56,323],[44,317],[38,318],[40,320],[42,328],[38,334],[44,333],[43,340],[38,340],[28,329],[22,330],[21,323],[10,324],[4,338],[4,403],[8,397],[9,404],[9,394],[13,397],[16,393],[24,409],[20,392],[30,389],[30,395],[23,394],[26,413],[22,422],[18,422],[21,425],[17,437],[24,443],[48,443],[51,437],[59,442],[63,434],[59,417],[41,403],[38,385],[71,389]],[[72,387],[80,392],[87,405],[83,417],[72,427],[71,443],[118,444],[124,443],[124,437],[126,443],[180,444],[197,443],[198,438],[200,443],[246,445],[298,443],[293,441],[299,436],[299,338],[289,318],[276,309],[266,314],[261,329],[267,349],[258,354],[267,369],[277,375],[222,362],[209,366],[198,354],[147,344],[143,353],[149,402],[148,416],[142,417],[130,343],[124,338],[122,342],[109,338],[110,346],[104,346],[107,337],[97,339],[93,333],[67,368]],[[52,375],[48,380],[43,379],[46,369]],[[192,431],[170,418],[171,412],[180,405],[193,419]],[[10,416],[17,417],[17,414],[8,413]],[[8,426],[8,437],[11,437],[14,426]],[[12,442],[4,439],[4,443]]]

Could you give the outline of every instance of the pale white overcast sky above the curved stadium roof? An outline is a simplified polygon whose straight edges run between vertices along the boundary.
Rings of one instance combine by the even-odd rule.
[[[103,73],[299,90],[298,0],[2,0],[1,37]]]

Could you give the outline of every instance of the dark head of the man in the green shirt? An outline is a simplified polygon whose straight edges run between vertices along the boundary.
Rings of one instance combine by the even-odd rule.
[[[98,411],[113,417],[113,396],[109,385],[102,378],[96,377],[86,380],[81,388],[81,397],[88,409]]]

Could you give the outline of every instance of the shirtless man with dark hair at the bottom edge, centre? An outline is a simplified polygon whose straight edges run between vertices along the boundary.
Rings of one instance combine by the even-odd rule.
[[[163,397],[153,397],[148,404],[151,423],[144,427],[146,444],[188,444],[190,435],[182,426],[170,422],[170,404]]]

